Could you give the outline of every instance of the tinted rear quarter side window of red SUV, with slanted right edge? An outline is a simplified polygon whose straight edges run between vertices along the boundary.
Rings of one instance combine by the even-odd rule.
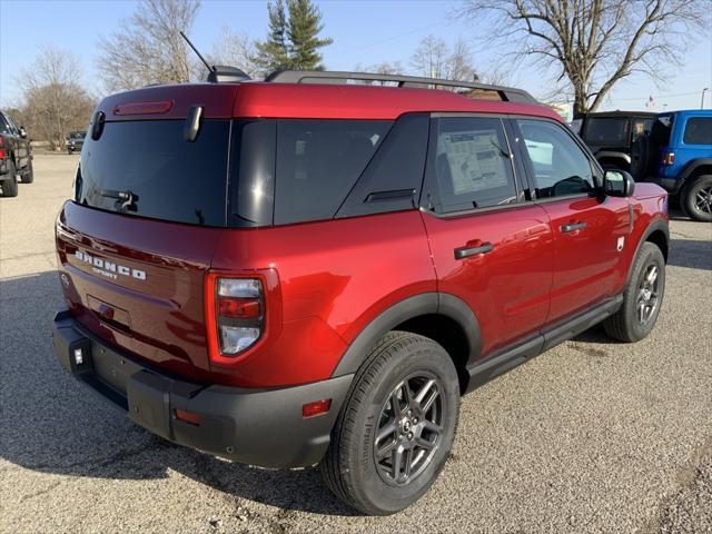
[[[333,218],[390,125],[279,120],[275,224]]]

